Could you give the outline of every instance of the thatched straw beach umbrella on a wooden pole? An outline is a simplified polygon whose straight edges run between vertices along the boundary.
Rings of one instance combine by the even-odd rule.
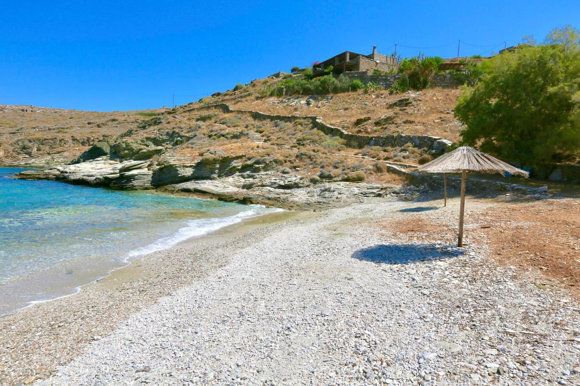
[[[420,173],[458,173],[461,172],[461,205],[459,206],[459,236],[458,247],[463,247],[463,209],[465,208],[465,177],[468,171],[478,173],[501,173],[509,172],[513,175],[528,177],[528,172],[518,169],[500,161],[488,154],[478,152],[469,146],[461,146],[452,152],[444,154],[425,165],[416,168]],[[445,188],[447,188],[445,186]],[[447,192],[445,192],[447,198]],[[447,200],[446,200],[447,201]]]

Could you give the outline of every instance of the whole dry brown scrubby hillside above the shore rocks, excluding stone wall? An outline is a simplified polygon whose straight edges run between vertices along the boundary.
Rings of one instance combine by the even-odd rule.
[[[345,133],[369,139],[397,134],[436,135],[451,141],[459,138],[461,125],[452,116],[459,94],[456,89],[400,95],[384,90],[324,97],[259,95],[260,84],[276,81],[255,80],[241,90],[165,112],[85,112],[4,105],[0,111],[2,164],[68,164],[97,142],[107,142],[114,146],[114,152],[121,152],[120,159],[154,157],[153,163],[158,165],[195,163],[211,152],[216,160],[223,156],[243,156],[253,163],[265,160],[265,169],[290,170],[307,178],[316,175],[328,181],[345,181],[350,173],[364,170],[364,177],[359,173],[350,179],[397,182],[400,177],[386,173],[386,164],[375,165],[376,161],[406,167],[429,160],[434,152],[432,146],[409,141],[390,146],[353,144],[336,133],[318,130],[310,119],[256,119],[251,113],[212,108],[220,103],[233,110],[320,116]],[[91,158],[85,156],[85,160]]]

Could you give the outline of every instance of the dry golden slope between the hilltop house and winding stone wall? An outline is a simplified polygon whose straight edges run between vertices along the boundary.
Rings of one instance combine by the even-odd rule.
[[[280,115],[316,115],[333,126],[365,135],[433,135],[457,141],[463,129],[453,116],[460,89],[431,88],[394,95],[385,90],[376,90],[369,94],[356,92],[324,97],[296,95],[259,98],[256,92],[260,90],[260,83],[262,81],[255,80],[242,90],[204,98],[202,103],[227,101],[236,109]],[[401,102],[403,98],[405,101]],[[360,119],[367,121],[357,124]],[[376,125],[378,119],[382,122]]]

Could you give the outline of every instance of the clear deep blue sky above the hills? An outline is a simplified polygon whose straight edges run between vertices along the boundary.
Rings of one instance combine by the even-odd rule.
[[[373,45],[451,43],[397,51],[455,57],[458,39],[499,50],[580,27],[578,0],[11,1],[0,12],[0,104],[92,111],[198,100]],[[491,48],[462,44],[461,56]]]

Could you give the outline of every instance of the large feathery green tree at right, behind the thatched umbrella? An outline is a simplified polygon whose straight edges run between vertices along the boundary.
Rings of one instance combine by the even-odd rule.
[[[455,106],[467,126],[464,144],[524,166],[578,153],[580,44],[578,30],[568,27],[490,60]]]

